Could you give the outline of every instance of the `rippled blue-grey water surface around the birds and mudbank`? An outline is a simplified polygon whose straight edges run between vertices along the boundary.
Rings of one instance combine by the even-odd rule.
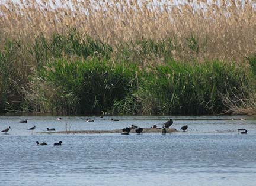
[[[84,119],[95,119],[85,122]],[[235,116],[241,118],[241,116]],[[28,123],[18,123],[28,119]],[[116,119],[116,118],[115,118]],[[168,117],[1,116],[0,185],[255,185],[256,120],[231,116],[176,116],[172,128],[188,132],[161,135],[40,134],[46,128],[111,130],[161,126]],[[222,120],[216,120],[222,119]],[[36,125],[34,134],[27,130]],[[246,128],[247,135],[236,132]],[[62,146],[53,146],[62,141]],[[36,146],[36,141],[47,146]]]

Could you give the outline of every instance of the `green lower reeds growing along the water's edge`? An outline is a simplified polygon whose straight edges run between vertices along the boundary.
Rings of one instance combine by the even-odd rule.
[[[176,61],[175,36],[111,46],[72,29],[49,39],[6,40],[0,112],[212,114],[230,109],[226,99],[236,107],[240,100],[254,102],[255,56],[247,58],[249,68],[199,63],[197,43],[193,35],[185,38],[191,58]]]

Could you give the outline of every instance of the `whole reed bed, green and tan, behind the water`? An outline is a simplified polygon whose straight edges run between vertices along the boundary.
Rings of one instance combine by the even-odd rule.
[[[36,4],[23,14],[1,6],[0,112],[256,113],[250,3],[208,5],[207,14],[190,5],[137,4],[132,14],[126,2],[107,12],[83,4],[87,15]]]

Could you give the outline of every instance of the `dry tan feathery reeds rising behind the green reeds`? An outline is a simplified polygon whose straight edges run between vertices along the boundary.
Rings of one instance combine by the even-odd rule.
[[[252,1],[188,1],[188,4],[153,5],[153,1],[72,1],[68,6],[48,1],[8,2],[0,5],[0,42],[7,37],[23,38],[30,42],[41,32],[66,32],[75,27],[91,37],[111,45],[141,38],[174,37],[175,58],[186,60],[219,58],[243,61],[255,53],[256,14]],[[173,1],[174,2],[174,1]],[[177,2],[177,1],[175,1]],[[235,3],[236,2],[236,3]],[[64,8],[66,6],[66,8]],[[191,34],[199,39],[199,51],[190,48]],[[2,49],[0,44],[0,50]]]

